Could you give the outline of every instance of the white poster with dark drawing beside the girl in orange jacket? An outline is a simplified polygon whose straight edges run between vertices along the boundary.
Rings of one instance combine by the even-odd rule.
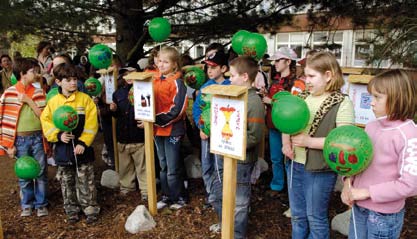
[[[155,122],[155,105],[152,81],[133,82],[135,119]]]

